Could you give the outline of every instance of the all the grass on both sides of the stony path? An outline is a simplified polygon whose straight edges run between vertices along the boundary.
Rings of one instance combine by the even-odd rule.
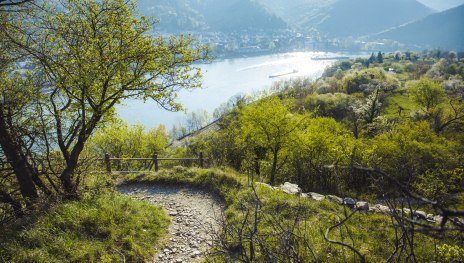
[[[326,229],[351,212],[328,200],[292,196],[262,185],[252,188],[245,175],[230,169],[174,167],[119,179],[188,184],[221,196],[225,211],[212,262],[359,261],[349,249],[324,240]],[[1,229],[0,261],[144,262],[150,258],[169,224],[163,210],[114,191],[96,192],[55,205],[28,223]],[[354,246],[367,262],[385,262],[394,249],[392,223],[383,214],[356,213],[328,238]],[[418,262],[453,262],[463,253],[459,237],[434,240],[416,233],[414,240]],[[435,249],[443,255],[436,256]],[[403,253],[399,261],[404,257]]]

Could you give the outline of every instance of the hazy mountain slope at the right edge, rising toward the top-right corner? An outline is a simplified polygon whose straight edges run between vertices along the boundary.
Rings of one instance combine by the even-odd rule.
[[[422,47],[464,51],[464,5],[383,32],[375,38],[392,39]]]

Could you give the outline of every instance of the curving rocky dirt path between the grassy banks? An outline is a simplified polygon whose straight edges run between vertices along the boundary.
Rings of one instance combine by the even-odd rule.
[[[151,262],[201,262],[214,244],[221,214],[217,197],[186,186],[132,184],[119,191],[163,206],[171,217],[166,244]]]

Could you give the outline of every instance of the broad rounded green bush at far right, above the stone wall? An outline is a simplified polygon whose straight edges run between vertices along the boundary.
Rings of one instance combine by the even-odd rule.
[[[403,182],[413,182],[431,169],[453,169],[459,156],[455,144],[437,136],[426,122],[397,125],[375,136],[362,150],[367,166]]]

